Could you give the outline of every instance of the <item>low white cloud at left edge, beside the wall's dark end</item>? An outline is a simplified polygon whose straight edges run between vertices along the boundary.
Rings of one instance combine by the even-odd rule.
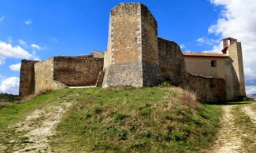
[[[2,81],[0,85],[0,92],[18,94],[19,93],[20,78],[10,77]]]

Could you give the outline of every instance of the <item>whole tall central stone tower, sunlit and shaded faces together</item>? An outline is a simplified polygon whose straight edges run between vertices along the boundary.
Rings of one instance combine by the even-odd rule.
[[[158,25],[145,5],[121,3],[110,11],[102,87],[156,86]]]

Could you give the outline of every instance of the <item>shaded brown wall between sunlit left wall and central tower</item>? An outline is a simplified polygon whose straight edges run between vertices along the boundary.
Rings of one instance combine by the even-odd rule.
[[[54,80],[67,86],[95,86],[102,68],[102,58],[56,56]]]

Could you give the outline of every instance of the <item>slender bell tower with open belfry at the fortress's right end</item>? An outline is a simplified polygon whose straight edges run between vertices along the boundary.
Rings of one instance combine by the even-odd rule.
[[[229,65],[229,67],[226,67],[228,100],[245,97],[241,42],[237,42],[235,38],[224,38],[222,48],[222,52],[229,56],[229,59],[226,60],[227,65]]]

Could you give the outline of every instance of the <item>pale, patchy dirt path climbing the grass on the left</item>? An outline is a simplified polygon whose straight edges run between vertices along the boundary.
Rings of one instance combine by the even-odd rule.
[[[50,152],[48,137],[53,135],[55,126],[71,105],[71,102],[47,105],[36,109],[17,125],[10,126],[15,131],[9,133],[13,152]]]

